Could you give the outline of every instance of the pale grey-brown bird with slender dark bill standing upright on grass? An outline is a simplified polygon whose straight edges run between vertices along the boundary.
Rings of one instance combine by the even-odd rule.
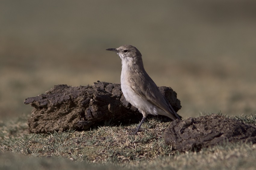
[[[136,47],[123,45],[106,50],[116,52],[121,58],[121,89],[123,95],[143,115],[139,126],[134,132],[135,134],[139,131],[148,114],[160,114],[170,117],[172,120],[180,119],[155,82],[145,71],[142,55]]]

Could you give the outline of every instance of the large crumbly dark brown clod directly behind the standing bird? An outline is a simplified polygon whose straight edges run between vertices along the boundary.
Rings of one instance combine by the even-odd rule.
[[[169,87],[160,91],[177,112],[180,100]],[[92,86],[56,85],[45,94],[25,99],[34,107],[28,126],[30,132],[47,133],[67,129],[85,130],[104,121],[139,122],[142,114],[123,96],[120,84],[100,82]]]

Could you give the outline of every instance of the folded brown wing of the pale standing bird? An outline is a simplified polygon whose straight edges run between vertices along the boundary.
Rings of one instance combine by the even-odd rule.
[[[162,95],[155,82],[149,77],[149,75],[146,73],[141,77],[143,78],[140,80],[136,78],[130,78],[129,82],[134,92],[158,108],[169,114],[173,114],[178,119],[180,119],[167,99]]]

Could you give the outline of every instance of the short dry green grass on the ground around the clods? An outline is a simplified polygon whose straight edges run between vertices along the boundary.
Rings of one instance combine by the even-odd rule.
[[[256,115],[230,117],[256,123]],[[138,135],[137,124],[111,122],[87,131],[29,134],[25,118],[0,123],[1,169],[253,169],[255,144],[225,144],[200,152],[179,153],[164,143],[169,123],[148,119]]]

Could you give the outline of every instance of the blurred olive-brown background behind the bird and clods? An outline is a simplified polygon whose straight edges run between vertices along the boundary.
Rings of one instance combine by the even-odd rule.
[[[181,116],[256,114],[256,2],[0,2],[0,120],[30,115],[27,97],[57,84],[120,83],[106,48],[142,53],[158,86],[172,87]]]

